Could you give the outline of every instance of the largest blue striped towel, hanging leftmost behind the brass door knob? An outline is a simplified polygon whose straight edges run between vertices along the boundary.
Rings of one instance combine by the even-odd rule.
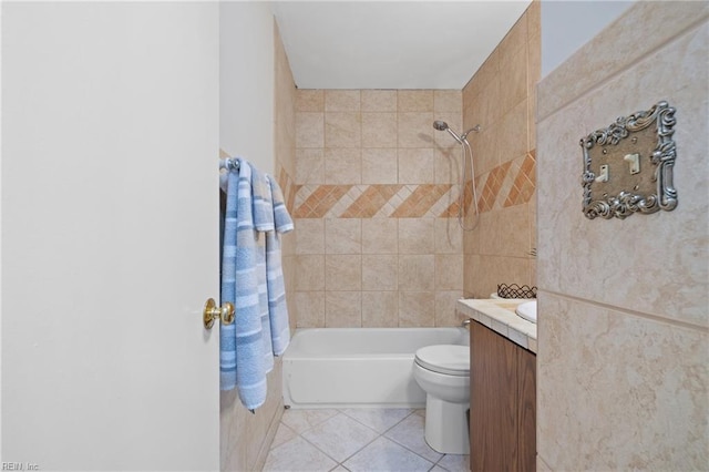
[[[236,309],[234,324],[222,326],[220,388],[237,388],[242,403],[254,410],[266,400],[266,369],[258,300],[257,234],[254,227],[251,167],[239,161],[229,172],[224,226],[222,301]]]

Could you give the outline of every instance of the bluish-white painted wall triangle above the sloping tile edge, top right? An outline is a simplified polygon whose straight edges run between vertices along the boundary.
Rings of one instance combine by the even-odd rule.
[[[586,44],[633,2],[542,1],[542,76]]]

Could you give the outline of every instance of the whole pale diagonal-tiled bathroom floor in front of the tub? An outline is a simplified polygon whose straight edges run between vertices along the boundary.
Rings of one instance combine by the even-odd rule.
[[[467,471],[467,455],[425,443],[424,418],[401,408],[286,410],[264,471]]]

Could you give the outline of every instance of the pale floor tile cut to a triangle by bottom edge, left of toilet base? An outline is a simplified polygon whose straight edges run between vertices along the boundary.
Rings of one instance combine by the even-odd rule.
[[[342,465],[352,472],[417,472],[430,470],[433,463],[387,438],[379,437]]]

